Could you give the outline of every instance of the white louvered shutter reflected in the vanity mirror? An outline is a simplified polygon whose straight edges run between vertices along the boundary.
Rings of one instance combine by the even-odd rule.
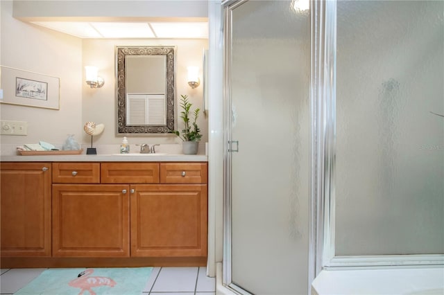
[[[163,94],[128,93],[127,125],[165,125],[166,101]]]

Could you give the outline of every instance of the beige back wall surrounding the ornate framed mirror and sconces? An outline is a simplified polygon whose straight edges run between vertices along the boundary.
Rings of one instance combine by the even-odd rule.
[[[176,46],[176,120],[181,109],[177,109],[177,100],[181,94],[186,94],[194,107],[203,107],[200,85],[191,89],[187,83],[187,66],[200,66],[200,80],[202,80],[203,48],[207,48],[207,39],[84,39],[83,66],[91,64],[99,68],[99,75],[105,80],[100,89],[91,89],[86,83],[83,86],[83,114],[82,120],[104,123],[103,134],[94,138],[97,144],[119,144],[121,136],[116,136],[116,97],[115,97],[115,46]],[[180,118],[179,118],[180,119]],[[200,114],[198,126],[202,130],[202,143],[207,141],[207,118]],[[182,121],[178,120],[178,129],[182,129]],[[85,134],[84,140],[88,141]],[[128,138],[131,144],[135,143],[180,143],[180,139],[173,134],[144,135]]]

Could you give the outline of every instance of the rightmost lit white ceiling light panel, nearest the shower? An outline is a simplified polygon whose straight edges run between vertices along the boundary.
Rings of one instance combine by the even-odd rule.
[[[208,38],[207,22],[151,22],[158,38]]]

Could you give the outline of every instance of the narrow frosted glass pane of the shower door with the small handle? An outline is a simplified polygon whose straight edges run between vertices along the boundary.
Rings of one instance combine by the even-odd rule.
[[[309,12],[248,1],[232,12],[232,281],[307,294]]]

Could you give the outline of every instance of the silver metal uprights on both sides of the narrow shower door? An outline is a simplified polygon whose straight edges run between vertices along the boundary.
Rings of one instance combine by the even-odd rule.
[[[242,3],[245,3],[248,0],[223,0],[221,2],[222,11],[223,11],[223,126],[224,126],[224,138],[223,142],[225,143],[223,146],[223,182],[224,182],[224,191],[223,191],[223,270],[222,270],[222,283],[225,287],[230,289],[232,292],[237,294],[250,294],[247,290],[242,287],[235,285],[232,282],[232,222],[231,222],[231,205],[232,205],[232,183],[231,183],[231,169],[232,169],[232,149],[230,143],[232,142],[232,113],[231,113],[231,105],[232,105],[232,97],[231,97],[231,82],[230,82],[230,71],[231,71],[231,47],[228,44],[231,44],[231,36],[232,36],[232,23],[231,23],[231,10],[240,6]],[[310,121],[310,134],[311,134],[311,158],[310,158],[310,170],[309,173],[312,175],[310,185],[309,185],[309,249],[308,249],[308,280],[307,280],[307,290],[308,294],[310,294],[311,283],[313,282],[316,274],[321,271],[321,264],[317,267],[317,259],[316,253],[318,253],[318,245],[316,240],[319,240],[318,233],[316,231],[316,227],[322,224],[320,220],[318,221],[316,216],[322,217],[321,215],[317,215],[321,206],[318,205],[316,201],[318,199],[318,188],[316,184],[318,183],[318,175],[323,175],[319,173],[318,169],[315,166],[317,163],[319,153],[316,152],[318,150],[318,142],[319,138],[316,134],[318,128],[319,116],[318,100],[315,98],[319,93],[322,93],[320,87],[316,87],[318,84],[318,75],[316,73],[319,72],[319,69],[322,68],[321,60],[318,60],[316,57],[317,51],[316,48],[322,46],[321,35],[323,35],[322,31],[320,31],[321,26],[318,26],[318,19],[322,18],[321,7],[323,7],[323,1],[310,1],[310,43],[311,43],[311,66],[310,66],[310,80],[311,84],[309,85],[309,104],[310,104],[310,112],[311,112],[311,121]],[[318,36],[318,37],[316,37]],[[321,71],[323,73],[323,71]],[[321,195],[319,195],[321,196]],[[321,261],[321,260],[319,260]]]

